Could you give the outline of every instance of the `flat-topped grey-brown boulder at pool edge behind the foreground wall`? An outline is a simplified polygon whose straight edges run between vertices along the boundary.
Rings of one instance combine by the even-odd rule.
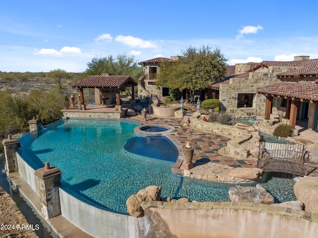
[[[257,184],[256,187],[231,187],[229,197],[232,202],[252,202],[268,205],[274,203],[274,197],[260,184]]]

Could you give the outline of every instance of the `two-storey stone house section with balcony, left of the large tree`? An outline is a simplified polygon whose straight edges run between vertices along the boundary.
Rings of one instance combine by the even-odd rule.
[[[164,61],[173,62],[177,57],[171,56],[168,58],[155,58],[139,62],[139,65],[143,66],[144,74],[138,80],[138,96],[150,97],[152,95],[168,96],[168,88],[159,87],[155,84],[157,81],[157,74],[160,70],[160,63]]]

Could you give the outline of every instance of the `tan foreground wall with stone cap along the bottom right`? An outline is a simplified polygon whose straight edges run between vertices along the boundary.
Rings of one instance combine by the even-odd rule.
[[[149,201],[142,208],[153,237],[318,237],[318,214],[273,205]]]

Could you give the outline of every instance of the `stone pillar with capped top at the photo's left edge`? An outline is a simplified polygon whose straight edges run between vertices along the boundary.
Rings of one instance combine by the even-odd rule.
[[[2,145],[4,148],[7,172],[18,172],[19,167],[16,152],[19,150],[20,142],[16,139],[12,139],[11,135],[8,135],[8,139],[2,140]]]

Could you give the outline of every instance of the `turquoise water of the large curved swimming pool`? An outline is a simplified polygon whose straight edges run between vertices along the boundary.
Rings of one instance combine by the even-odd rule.
[[[229,201],[228,190],[235,184],[172,174],[177,154],[174,159],[166,160],[164,153],[173,154],[175,146],[160,137],[153,145],[149,138],[134,134],[138,125],[120,120],[60,120],[46,126],[37,138],[30,133],[20,138],[19,153],[34,169],[49,161],[63,172],[64,190],[86,203],[114,212],[127,213],[128,197],[149,185],[161,186],[161,197]],[[137,141],[137,151],[147,153],[141,156],[126,151],[127,141]],[[156,148],[164,149],[156,151]],[[255,186],[255,183],[245,185]],[[262,185],[276,202],[296,200],[292,179],[271,175]]]

